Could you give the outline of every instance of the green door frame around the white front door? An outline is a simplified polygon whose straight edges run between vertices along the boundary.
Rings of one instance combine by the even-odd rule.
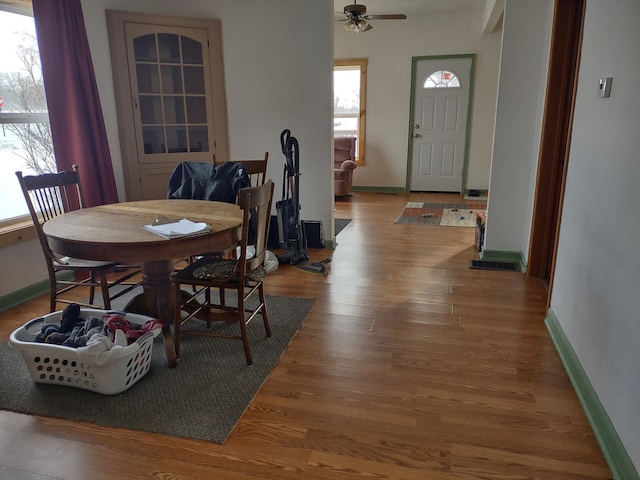
[[[407,125],[407,172],[405,179],[405,192],[411,191],[411,170],[413,166],[413,129],[411,126],[414,123],[415,115],[415,75],[418,62],[422,60],[448,60],[457,58],[469,58],[471,59],[471,71],[469,74],[469,105],[467,106],[467,124],[465,125],[465,142],[464,142],[464,157],[462,163],[462,175],[460,178],[460,193],[464,194],[465,185],[467,184],[467,170],[469,163],[469,140],[471,133],[471,117],[473,113],[473,91],[475,85],[475,66],[476,55],[475,53],[463,53],[458,55],[426,55],[419,57],[411,57],[411,94],[409,99],[409,122]]]

